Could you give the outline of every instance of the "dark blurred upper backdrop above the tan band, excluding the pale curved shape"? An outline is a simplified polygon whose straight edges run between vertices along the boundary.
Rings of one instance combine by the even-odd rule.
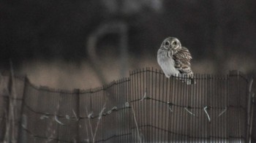
[[[255,6],[255,0],[1,0],[1,66],[10,58],[16,64],[56,58],[79,62],[88,58],[89,35],[113,21],[128,26],[129,55],[156,57],[162,40],[176,36],[195,61],[207,58],[219,65],[236,55],[254,58]],[[97,53],[115,53],[117,39],[103,36]]]

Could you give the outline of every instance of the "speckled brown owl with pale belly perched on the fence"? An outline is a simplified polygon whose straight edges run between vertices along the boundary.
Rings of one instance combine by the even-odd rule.
[[[181,47],[181,42],[175,37],[167,37],[157,52],[157,62],[164,71],[165,76],[176,76],[188,85],[195,84],[191,69],[191,54],[187,47]],[[181,76],[179,76],[181,75]],[[185,75],[185,76],[184,76]]]

